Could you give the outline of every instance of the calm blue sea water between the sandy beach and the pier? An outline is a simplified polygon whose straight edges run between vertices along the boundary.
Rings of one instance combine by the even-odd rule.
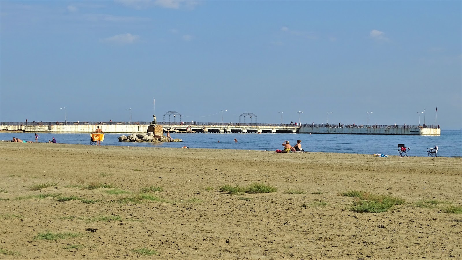
[[[37,133],[38,141],[47,143],[55,137],[58,143],[90,145],[90,133]],[[440,136],[425,135],[369,135],[369,134],[309,134],[309,133],[171,133],[172,138],[182,142],[138,143],[119,142],[122,135],[131,133],[106,133],[101,145],[210,148],[275,151],[282,148],[285,140],[297,144],[309,152],[359,153],[397,155],[398,144],[409,147],[408,156],[427,157],[427,148],[438,146],[438,157],[462,157],[462,129],[441,130]],[[35,141],[35,133],[0,133],[0,140],[18,137]],[[237,139],[237,143],[234,142]],[[19,145],[19,144],[18,144]],[[28,144],[21,144],[28,145]],[[50,144],[52,145],[52,144]],[[282,149],[281,149],[282,150]]]

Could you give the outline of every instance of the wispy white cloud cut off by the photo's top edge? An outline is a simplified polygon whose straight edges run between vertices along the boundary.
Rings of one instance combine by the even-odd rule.
[[[137,10],[155,6],[169,9],[193,9],[199,4],[198,1],[194,0],[117,0],[116,2]]]

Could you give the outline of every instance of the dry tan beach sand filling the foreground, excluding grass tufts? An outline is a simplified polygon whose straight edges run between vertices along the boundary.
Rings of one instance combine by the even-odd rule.
[[[0,258],[460,259],[462,158],[142,148],[0,142]],[[231,195],[261,182],[274,193]],[[31,191],[33,184],[58,182]],[[85,189],[91,183],[115,188]],[[162,201],[117,202],[160,186]],[[213,187],[213,190],[205,190]],[[296,189],[305,194],[286,194]],[[112,194],[117,191],[128,193]],[[367,190],[406,199],[383,213],[352,212]],[[5,193],[7,191],[7,193]],[[111,193],[110,193],[111,192]],[[21,196],[61,193],[100,200]],[[9,199],[9,200],[7,200]],[[419,200],[451,204],[418,207]],[[319,202],[326,202],[321,206]],[[96,221],[97,217],[120,218]],[[100,219],[103,220],[103,219]],[[97,229],[95,232],[87,229]],[[44,232],[80,236],[36,239]],[[143,256],[147,248],[157,254]]]

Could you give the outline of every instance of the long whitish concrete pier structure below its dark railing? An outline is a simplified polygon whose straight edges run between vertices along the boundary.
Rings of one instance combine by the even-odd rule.
[[[176,133],[336,133],[336,134],[394,134],[394,135],[441,135],[439,128],[422,128],[419,126],[380,126],[380,127],[333,127],[315,125],[295,127],[290,125],[181,125],[159,122],[164,132]],[[104,133],[147,133],[149,124],[91,124],[91,125],[1,125],[4,132],[28,133],[91,133],[100,126]]]

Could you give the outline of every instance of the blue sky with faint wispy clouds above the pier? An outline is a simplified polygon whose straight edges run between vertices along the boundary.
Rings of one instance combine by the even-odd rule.
[[[461,129],[461,60],[462,1],[1,0],[0,121]]]

